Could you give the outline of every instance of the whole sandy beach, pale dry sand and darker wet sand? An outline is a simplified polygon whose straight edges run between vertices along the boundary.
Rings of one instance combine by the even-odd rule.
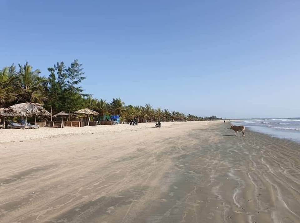
[[[300,222],[300,144],[148,125],[2,142],[0,222]]]

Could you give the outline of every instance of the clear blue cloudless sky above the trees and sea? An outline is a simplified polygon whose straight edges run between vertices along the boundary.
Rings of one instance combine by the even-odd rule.
[[[0,0],[0,67],[83,63],[93,97],[218,117],[300,116],[300,1]]]

